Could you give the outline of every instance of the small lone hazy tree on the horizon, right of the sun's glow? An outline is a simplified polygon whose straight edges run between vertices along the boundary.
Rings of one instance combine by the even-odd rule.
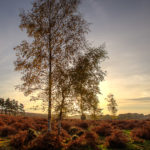
[[[117,103],[116,103],[116,100],[114,99],[114,95],[113,94],[109,94],[106,98],[108,104],[107,104],[107,107],[108,107],[108,110],[111,112],[111,114],[113,116],[116,116],[116,113],[117,113]]]

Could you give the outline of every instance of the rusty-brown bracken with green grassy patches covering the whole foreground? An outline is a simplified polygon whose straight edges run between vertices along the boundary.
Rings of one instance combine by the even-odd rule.
[[[47,132],[47,119],[0,115],[0,149],[7,150],[149,150],[150,120],[57,121]]]

